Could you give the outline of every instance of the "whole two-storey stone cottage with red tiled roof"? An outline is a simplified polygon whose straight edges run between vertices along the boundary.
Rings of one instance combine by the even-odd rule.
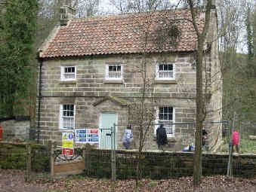
[[[141,96],[145,65],[153,87],[145,93],[154,99],[153,131],[146,149],[156,149],[158,123],[164,123],[168,149],[181,150],[193,141],[196,118],[196,33],[190,11],[156,11],[103,17],[73,18],[63,6],[56,26],[39,50],[39,97],[36,117],[39,139],[60,141],[60,133],[73,129],[109,128],[116,123],[117,148],[122,149],[125,125],[130,123],[129,106]],[[179,35],[157,42],[159,29],[177,20]],[[199,29],[204,25],[198,14]],[[171,39],[171,41],[170,41]],[[211,25],[205,42],[205,122],[221,120],[222,80],[217,45],[217,16],[211,10]],[[146,89],[147,90],[147,89]],[[149,102],[150,103],[150,102]],[[131,112],[131,111],[130,111]],[[137,128],[134,145],[137,148]],[[206,123],[213,148],[221,139],[221,124]],[[103,131],[98,148],[110,148]]]

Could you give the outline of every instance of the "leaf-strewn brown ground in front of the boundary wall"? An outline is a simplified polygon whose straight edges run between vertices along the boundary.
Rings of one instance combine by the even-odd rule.
[[[32,181],[24,181],[24,171],[0,169],[0,192],[79,192],[79,191],[134,191],[133,180],[116,181],[112,184],[106,179],[85,178],[72,176],[67,178],[49,178],[47,176],[33,175]],[[226,176],[204,177],[200,187],[193,187],[191,177],[165,180],[142,180],[140,191],[256,191],[256,178],[227,178]]]

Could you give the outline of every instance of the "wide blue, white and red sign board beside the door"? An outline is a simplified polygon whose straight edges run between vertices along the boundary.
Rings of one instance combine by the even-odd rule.
[[[76,143],[98,143],[99,130],[98,129],[79,129],[76,130]]]

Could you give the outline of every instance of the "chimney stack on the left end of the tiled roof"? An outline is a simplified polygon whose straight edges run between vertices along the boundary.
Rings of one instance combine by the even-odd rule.
[[[72,0],[64,0],[60,7],[60,26],[66,26],[66,23],[75,17],[76,10],[72,8]]]

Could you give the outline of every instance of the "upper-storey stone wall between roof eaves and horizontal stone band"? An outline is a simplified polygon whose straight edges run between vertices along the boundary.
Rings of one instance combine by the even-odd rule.
[[[192,54],[164,56],[150,55],[147,58],[148,78],[153,79],[156,63],[175,64],[176,81],[155,81],[156,96],[167,98],[191,98],[196,91],[196,69]],[[51,59],[42,66],[43,96],[112,96],[134,97],[141,89],[140,55],[91,56],[83,59]],[[105,65],[121,63],[124,80],[106,81]],[[76,81],[60,81],[60,66],[76,66]]]

